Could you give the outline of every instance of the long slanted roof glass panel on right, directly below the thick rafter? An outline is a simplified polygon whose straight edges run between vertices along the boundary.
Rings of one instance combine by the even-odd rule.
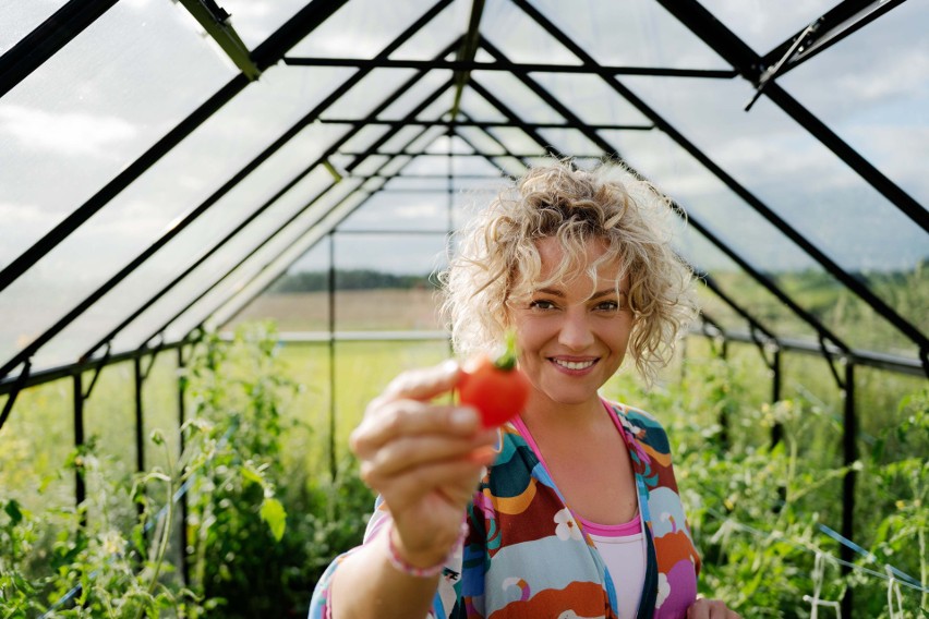
[[[737,182],[872,288],[889,274],[914,272],[925,259],[926,233],[779,108],[762,98],[743,111],[746,84],[715,82],[711,88],[705,81],[681,80],[672,88],[666,78],[629,82]],[[780,260],[765,265],[772,271],[783,267]],[[926,330],[929,317],[908,300],[885,301]],[[848,337],[854,343],[866,335]],[[904,343],[898,333],[888,337],[884,350]]]

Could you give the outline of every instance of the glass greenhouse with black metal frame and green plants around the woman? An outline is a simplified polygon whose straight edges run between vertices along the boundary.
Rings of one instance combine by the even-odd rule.
[[[925,617],[927,24],[920,0],[0,0],[0,616],[306,616],[375,510],[351,433],[460,357],[459,232],[560,162],[653,183],[696,276],[653,384],[627,360],[601,392],[667,430],[697,593]]]

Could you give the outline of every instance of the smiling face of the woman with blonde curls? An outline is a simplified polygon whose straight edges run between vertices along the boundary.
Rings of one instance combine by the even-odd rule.
[[[545,281],[564,251],[554,238],[539,241],[536,247]],[[602,242],[589,241],[587,264],[603,253]],[[606,263],[599,267],[595,281],[583,268],[567,281],[527,290],[512,300],[519,364],[534,388],[530,405],[533,401],[541,405],[599,401],[598,389],[623,363],[632,327],[625,294],[628,278],[617,294],[618,275],[619,264]]]

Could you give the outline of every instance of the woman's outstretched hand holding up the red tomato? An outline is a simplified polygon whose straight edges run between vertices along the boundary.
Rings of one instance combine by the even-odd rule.
[[[481,428],[476,411],[431,402],[458,376],[454,362],[405,372],[371,402],[350,439],[362,480],[390,510],[395,547],[417,567],[448,554],[494,458],[497,433]]]

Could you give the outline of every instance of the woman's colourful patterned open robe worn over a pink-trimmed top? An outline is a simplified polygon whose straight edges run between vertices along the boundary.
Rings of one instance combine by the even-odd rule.
[[[608,403],[632,460],[648,544],[638,619],[683,619],[697,597],[700,559],[671,463],[667,436],[651,415]],[[507,424],[499,453],[468,508],[470,533],[439,579],[433,619],[616,619],[616,591],[600,553],[526,439]],[[378,501],[365,534],[389,519]],[[329,617],[338,557],[316,585],[310,618]],[[622,576],[619,576],[622,578]]]

